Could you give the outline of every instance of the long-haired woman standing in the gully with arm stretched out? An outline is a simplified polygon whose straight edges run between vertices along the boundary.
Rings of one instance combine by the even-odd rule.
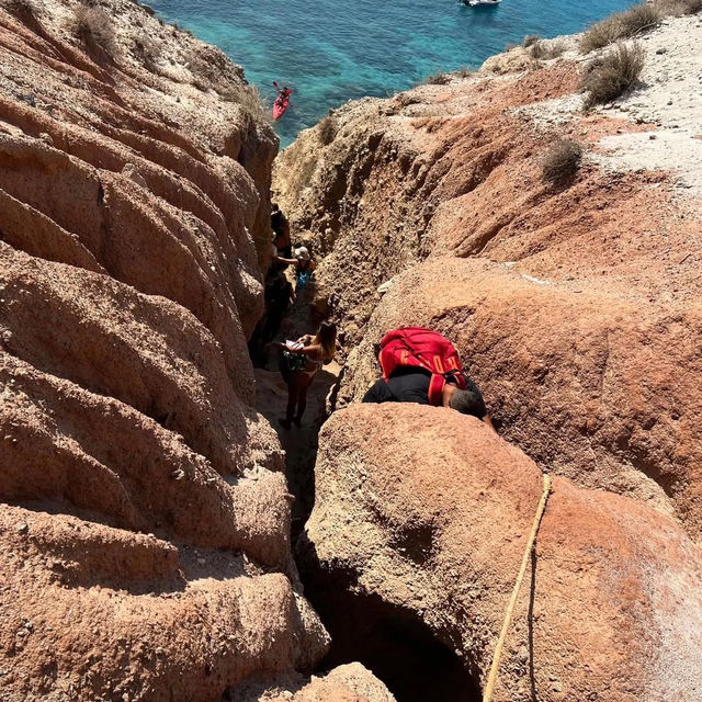
[[[307,406],[307,389],[326,363],[337,351],[337,326],[322,321],[316,336],[305,335],[297,341],[273,342],[269,348],[280,349],[281,374],[287,385],[287,409],[279,421],[284,429],[301,426]]]

